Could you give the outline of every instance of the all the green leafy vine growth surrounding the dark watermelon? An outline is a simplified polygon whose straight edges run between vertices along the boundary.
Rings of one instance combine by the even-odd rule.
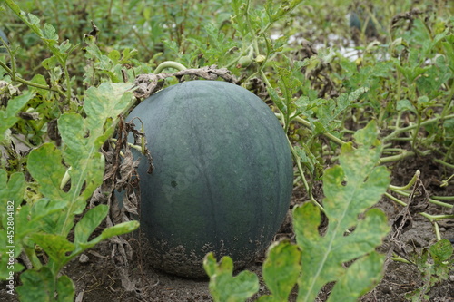
[[[54,293],[69,299],[74,287],[69,278],[58,277],[62,264],[100,240],[136,227],[114,226],[91,239],[106,209],[86,209],[86,199],[103,181],[99,149],[114,132],[118,114],[133,102],[131,83],[138,74],[153,73],[162,61],[227,67],[242,86],[271,100],[288,133],[298,170],[295,185],[307,191],[308,202],[293,212],[297,244],[281,242],[268,251],[263,278],[271,293],[261,301],[285,300],[295,282],[301,297],[313,297],[317,288],[335,280],[331,300],[343,300],[345,288],[357,289],[353,294],[358,297],[376,284],[382,257],[372,249],[386,229],[383,216],[366,209],[372,195],[375,199],[382,192],[385,182],[377,178],[385,173],[370,165],[364,169],[364,158],[373,166],[418,154],[443,167],[440,183],[452,183],[454,27],[452,5],[446,2],[20,3],[33,14],[22,12],[13,0],[0,6],[0,25],[11,42],[2,48],[6,53],[0,53],[0,205],[7,209],[8,201],[14,202],[12,211],[0,211],[0,240],[13,240],[14,258],[23,253],[33,265],[21,275],[23,286],[17,288],[24,299],[52,300]],[[358,34],[351,34],[345,17],[352,12],[360,24]],[[368,33],[369,24],[375,36]],[[354,43],[355,57],[346,54],[345,41]],[[355,132],[371,120],[379,134],[370,125]],[[353,133],[362,144],[358,149],[346,142]],[[26,151],[18,151],[18,144]],[[325,169],[338,156],[341,165]],[[318,180],[326,194],[322,205],[312,195]],[[351,187],[355,184],[359,188]],[[373,193],[355,195],[366,189]],[[408,191],[394,191],[408,196]],[[452,208],[439,200],[430,202]],[[320,210],[330,220],[323,236],[316,227]],[[356,224],[352,218],[359,213],[364,217]],[[79,214],[82,219],[74,225]],[[7,229],[13,217],[14,236]],[[445,218],[452,215],[437,217]],[[434,225],[437,219],[431,219]],[[75,237],[69,241],[72,230]],[[344,232],[351,234],[343,236]],[[356,241],[361,237],[364,242]],[[313,244],[319,241],[324,242],[321,247]],[[48,263],[38,257],[37,245],[49,256]],[[444,250],[448,245],[433,247]],[[438,262],[443,253],[433,249],[424,248],[412,259],[421,269],[424,286],[409,298],[426,298],[429,288],[445,279],[439,276],[445,276],[451,262]],[[2,264],[9,260],[8,251],[0,247]],[[316,270],[305,268],[310,256],[319,261]],[[316,267],[317,261],[310,260]],[[211,285],[219,290],[216,297],[227,299],[230,284],[243,280],[249,286],[241,297],[252,297],[254,277],[233,278],[228,260],[222,260],[225,269],[219,271],[215,260],[210,261],[212,275],[223,276],[222,287],[217,281]],[[350,264],[347,269],[341,267],[345,262]],[[12,271],[22,269],[15,263]],[[7,278],[8,271],[2,265],[0,278]],[[277,275],[282,279],[273,278]],[[46,290],[35,289],[38,285]]]

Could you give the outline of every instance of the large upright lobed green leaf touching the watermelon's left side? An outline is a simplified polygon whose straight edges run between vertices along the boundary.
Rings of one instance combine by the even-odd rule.
[[[65,202],[68,207],[63,215],[44,218],[47,230],[54,227],[53,233],[68,234],[74,215],[82,213],[86,200],[102,184],[104,156],[99,148],[114,131],[118,115],[131,105],[132,93],[125,93],[130,87],[130,84],[103,83],[99,88],[90,88],[84,104],[87,118],[70,112],[58,119],[64,151],[45,143],[30,153],[28,167],[40,185],[40,192],[53,202]],[[62,189],[65,185],[69,185],[69,190]]]

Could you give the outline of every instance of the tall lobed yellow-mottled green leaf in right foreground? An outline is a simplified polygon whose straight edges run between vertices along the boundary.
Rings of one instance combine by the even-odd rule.
[[[386,236],[389,227],[380,209],[369,210],[364,219],[359,215],[380,200],[387,190],[390,175],[385,167],[375,167],[380,159],[381,146],[377,138],[374,122],[357,132],[355,138],[360,147],[353,149],[351,143],[342,146],[340,165],[328,169],[323,174],[323,206],[329,225],[324,236],[319,235],[321,213],[311,203],[293,209],[293,226],[298,246],[301,248],[303,270],[298,280],[299,301],[313,301],[325,284],[343,280],[354,283],[354,274],[349,274],[343,263],[363,258],[374,251]],[[371,145],[378,147],[371,148]],[[346,230],[355,228],[349,236]],[[357,260],[358,261],[358,260]],[[360,266],[368,270],[372,267],[366,260]],[[356,268],[356,267],[353,267]],[[377,270],[375,277],[380,279]],[[339,301],[360,297],[365,287],[341,291]]]

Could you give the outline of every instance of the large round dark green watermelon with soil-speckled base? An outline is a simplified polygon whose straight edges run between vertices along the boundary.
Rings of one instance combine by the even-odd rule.
[[[145,158],[139,167],[153,267],[203,277],[210,251],[241,268],[267,248],[289,209],[293,170],[281,124],[259,97],[232,83],[178,83],[134,117],[153,157],[152,174]]]

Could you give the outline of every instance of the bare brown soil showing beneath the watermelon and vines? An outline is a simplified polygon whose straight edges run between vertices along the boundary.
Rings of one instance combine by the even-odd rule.
[[[403,185],[410,180],[416,170],[420,170],[420,179],[429,194],[454,195],[452,184],[444,189],[439,187],[439,180],[443,179],[443,173],[449,175],[452,171],[444,171],[438,166],[428,166],[428,162],[428,159],[410,159],[390,167],[392,183]],[[321,200],[321,188],[318,189],[318,192],[316,190],[315,193],[318,194],[316,198]],[[304,193],[295,191],[292,204],[301,202],[300,200],[304,200]],[[390,224],[401,210],[400,206],[387,199],[380,200],[377,206],[387,213]],[[426,211],[431,214],[447,212],[445,209],[433,205],[430,205]],[[439,225],[443,239],[454,239],[454,220],[444,220]],[[283,225],[281,233],[285,233],[285,236],[291,236],[291,229],[288,224]],[[434,231],[429,220],[415,215],[411,229],[401,235],[400,242],[405,245],[406,251],[410,252],[413,248],[420,250],[428,247],[430,243],[434,242],[434,239]],[[390,247],[387,241],[385,240],[383,246],[379,248],[383,253],[386,253]],[[114,265],[110,257],[112,247],[108,242],[103,242],[88,251],[84,257],[74,260],[64,268],[64,273],[74,280],[77,293],[75,301],[212,301],[207,279],[178,278],[156,271],[144,260],[145,257],[143,256],[146,254],[146,250],[140,248],[137,240],[131,239],[130,242],[134,253],[133,259],[127,266]],[[258,258],[256,263],[250,264],[247,269],[260,276],[261,258]],[[17,300],[5,293],[5,283],[0,283],[0,285],[1,301]],[[361,301],[406,301],[403,295],[420,286],[421,278],[416,267],[390,260],[387,263],[385,276],[380,285],[362,297]],[[326,300],[329,292],[329,286],[323,288],[319,301]],[[266,287],[261,282],[259,295],[264,293],[266,293]],[[454,301],[454,271],[450,273],[449,280],[432,287],[429,296],[430,301]],[[296,293],[293,293],[291,301],[295,301],[295,299]]]

